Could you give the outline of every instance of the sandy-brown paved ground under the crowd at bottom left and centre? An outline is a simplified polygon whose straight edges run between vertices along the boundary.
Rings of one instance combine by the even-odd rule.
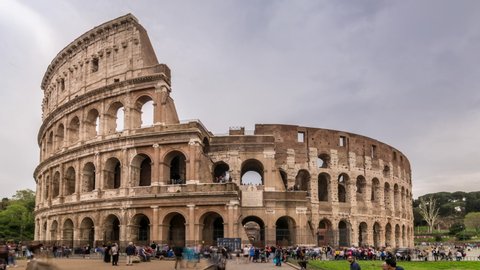
[[[125,265],[125,258],[120,258],[119,266],[112,266],[110,263],[104,263],[100,259],[79,259],[79,258],[70,258],[70,259],[46,259],[48,263],[55,265],[60,270],[169,270],[174,269],[174,261],[159,261],[154,260],[151,262],[136,263],[133,266]],[[8,268],[15,270],[25,270],[27,262],[25,260],[17,261],[18,267]],[[200,264],[197,264],[195,267],[192,264],[183,265],[182,270],[200,270],[204,269],[207,266],[207,261],[202,260]],[[236,262],[235,260],[229,260],[227,262],[227,270],[279,270],[279,269],[292,269],[286,264],[282,264],[282,267],[276,267],[273,263],[244,263]],[[43,269],[42,269],[43,270]]]

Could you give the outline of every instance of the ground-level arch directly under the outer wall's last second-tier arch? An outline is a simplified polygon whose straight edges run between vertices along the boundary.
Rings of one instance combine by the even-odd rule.
[[[167,239],[169,246],[185,246],[185,217],[178,213],[172,212],[165,216],[163,221],[164,238]]]

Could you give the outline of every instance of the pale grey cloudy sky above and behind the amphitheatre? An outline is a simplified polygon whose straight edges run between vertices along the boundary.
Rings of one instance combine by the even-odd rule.
[[[0,197],[35,188],[41,79],[132,13],[172,69],[181,119],[298,124],[402,151],[413,193],[480,191],[480,1],[0,1]]]

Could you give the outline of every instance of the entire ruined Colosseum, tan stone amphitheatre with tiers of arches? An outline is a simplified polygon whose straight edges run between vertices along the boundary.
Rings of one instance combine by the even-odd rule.
[[[170,69],[131,14],[81,35],[42,80],[35,240],[412,247],[411,170],[365,136],[180,121]]]

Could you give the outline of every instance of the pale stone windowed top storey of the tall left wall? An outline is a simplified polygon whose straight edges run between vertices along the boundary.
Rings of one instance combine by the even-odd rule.
[[[127,14],[75,39],[52,60],[42,80],[43,119],[60,105],[107,85],[163,73],[150,39],[137,19]]]

